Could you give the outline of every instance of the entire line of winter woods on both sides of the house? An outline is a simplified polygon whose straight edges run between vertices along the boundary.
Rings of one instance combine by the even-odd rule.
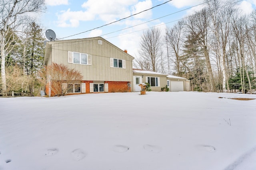
[[[192,90],[252,93],[256,88],[256,10],[243,14],[234,0],[205,0],[202,10],[165,30],[141,37],[134,67],[188,78]],[[0,92],[44,90],[44,37],[33,13],[44,0],[0,2]],[[171,71],[172,70],[172,71]]]

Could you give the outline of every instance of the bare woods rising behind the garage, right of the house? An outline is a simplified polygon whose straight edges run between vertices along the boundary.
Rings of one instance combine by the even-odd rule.
[[[165,30],[144,32],[134,66],[188,78],[203,92],[256,89],[256,10],[243,14],[234,1],[204,8]]]

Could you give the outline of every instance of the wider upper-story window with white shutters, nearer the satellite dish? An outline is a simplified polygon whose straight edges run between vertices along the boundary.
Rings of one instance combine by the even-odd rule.
[[[68,63],[92,65],[92,55],[68,51]]]

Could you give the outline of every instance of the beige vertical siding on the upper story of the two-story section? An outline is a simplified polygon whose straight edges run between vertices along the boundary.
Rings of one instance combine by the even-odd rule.
[[[102,40],[102,45],[98,40]],[[52,44],[51,61],[75,68],[81,72],[83,80],[132,82],[133,57],[100,37],[49,43]],[[68,63],[68,51],[92,55],[92,65]],[[111,68],[110,58],[125,60],[126,68]]]

